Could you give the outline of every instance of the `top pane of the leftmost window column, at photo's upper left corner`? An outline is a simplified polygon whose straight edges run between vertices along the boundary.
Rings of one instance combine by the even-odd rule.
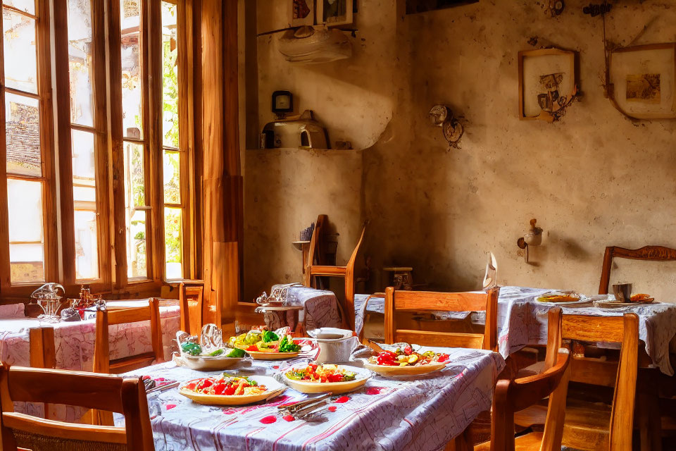
[[[3,8],[5,85],[37,93],[35,20]]]

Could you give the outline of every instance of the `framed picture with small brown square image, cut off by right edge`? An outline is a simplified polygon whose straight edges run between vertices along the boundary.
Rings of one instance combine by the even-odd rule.
[[[676,118],[676,43],[611,52],[608,97],[632,119]]]

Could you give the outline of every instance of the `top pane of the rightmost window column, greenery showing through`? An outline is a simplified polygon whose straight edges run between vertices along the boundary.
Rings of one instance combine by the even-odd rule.
[[[176,5],[162,2],[163,141],[175,148],[179,147],[177,13]]]

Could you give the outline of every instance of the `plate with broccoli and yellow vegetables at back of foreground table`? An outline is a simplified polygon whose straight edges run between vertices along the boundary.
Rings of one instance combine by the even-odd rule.
[[[279,332],[279,333],[277,333]],[[253,359],[280,360],[298,357],[301,345],[294,342],[286,331],[277,330],[249,330],[237,337],[231,337],[228,345],[235,349],[244,350]]]

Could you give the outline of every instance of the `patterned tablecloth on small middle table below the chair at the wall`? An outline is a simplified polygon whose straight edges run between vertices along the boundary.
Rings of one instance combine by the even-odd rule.
[[[273,290],[281,285],[273,285]],[[287,288],[287,304],[303,306],[306,330],[320,327],[340,327],[342,324],[338,299],[334,292],[303,286]]]

